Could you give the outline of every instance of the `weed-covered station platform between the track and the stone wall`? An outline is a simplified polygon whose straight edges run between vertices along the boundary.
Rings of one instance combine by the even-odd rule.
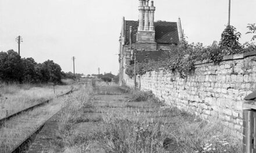
[[[66,102],[50,152],[241,152],[220,121],[162,107],[151,93],[97,86]]]

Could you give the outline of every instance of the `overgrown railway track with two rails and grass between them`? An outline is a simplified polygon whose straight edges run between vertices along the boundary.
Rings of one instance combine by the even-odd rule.
[[[72,93],[74,91],[76,91],[77,89],[74,89],[72,88],[71,90],[69,90],[69,92],[66,92],[64,94],[61,94],[59,96],[56,96],[55,98],[64,98],[63,96],[69,94],[69,93]],[[27,143],[27,140],[29,140],[31,137],[35,136],[36,133],[38,131],[40,131],[40,129],[44,126],[45,122],[47,122],[49,119],[52,118],[52,116],[54,116],[56,113],[58,113],[60,110],[60,107],[56,107],[56,105],[53,105],[52,103],[49,103],[49,101],[54,101],[55,98],[52,98],[52,99],[49,99],[49,100],[46,100],[40,104],[36,104],[36,105],[33,105],[29,108],[26,108],[22,111],[19,111],[19,112],[16,112],[15,114],[12,114],[12,115],[9,115],[7,116],[6,118],[3,118],[0,120],[0,153],[9,153],[9,152],[21,152],[21,148],[20,146],[22,146],[23,144],[26,144]],[[44,107],[41,107],[42,105],[45,105],[46,108]],[[40,113],[37,113],[37,114],[29,114],[30,112],[33,112],[34,110],[36,110],[37,112],[40,112]],[[48,110],[48,111],[45,111],[45,110]],[[51,110],[51,113],[49,113],[49,110]],[[24,117],[23,117],[23,114],[24,114]],[[16,118],[17,116],[17,118]],[[42,121],[38,121],[38,120],[42,120]],[[11,122],[11,123],[9,123]],[[16,130],[19,128],[16,128],[19,127],[19,123],[27,123],[27,125],[33,125],[37,128],[34,128],[34,129],[29,129],[29,130],[24,130],[23,131],[20,131],[20,133],[24,133],[24,135],[26,135],[26,137],[23,137],[22,139],[16,139],[15,137],[16,136],[13,136],[12,137],[12,134],[15,135],[17,132]],[[37,123],[38,122],[38,123]],[[39,123],[40,122],[40,123]],[[6,123],[9,123],[9,125],[6,126]],[[27,126],[26,125],[26,126]],[[25,127],[26,127],[25,126]],[[13,129],[11,129],[11,128]],[[27,128],[30,128],[29,126]],[[1,137],[1,132],[5,132],[5,129],[7,129],[7,131],[9,130],[9,133],[10,133],[10,137],[6,138],[4,136],[8,135],[8,134],[3,134],[2,137]],[[26,128],[24,128],[26,129]],[[2,131],[1,131],[2,130]],[[12,132],[12,130],[14,132]],[[16,132],[16,133],[15,133]],[[12,144],[12,146],[6,146],[4,143],[4,141],[13,141],[14,143],[10,143]]]

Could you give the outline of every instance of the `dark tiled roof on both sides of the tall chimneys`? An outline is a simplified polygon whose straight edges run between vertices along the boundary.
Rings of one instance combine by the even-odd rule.
[[[125,44],[129,44],[130,26],[133,27],[133,43],[136,42],[136,33],[138,29],[138,21],[126,20],[126,41]],[[155,41],[157,43],[171,44],[179,43],[179,34],[177,31],[176,22],[158,21],[155,25]]]

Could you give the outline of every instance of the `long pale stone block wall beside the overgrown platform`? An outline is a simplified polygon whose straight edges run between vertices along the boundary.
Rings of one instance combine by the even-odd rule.
[[[225,56],[219,64],[195,63],[187,78],[164,70],[150,71],[137,78],[138,88],[152,92],[168,105],[208,119],[220,118],[241,133],[243,99],[256,89],[256,52]],[[129,86],[133,79],[125,77]]]

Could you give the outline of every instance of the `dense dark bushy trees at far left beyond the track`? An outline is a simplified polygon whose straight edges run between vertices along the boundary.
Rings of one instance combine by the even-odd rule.
[[[52,60],[36,63],[32,57],[22,58],[14,50],[0,52],[0,81],[20,83],[60,83],[62,71]]]

